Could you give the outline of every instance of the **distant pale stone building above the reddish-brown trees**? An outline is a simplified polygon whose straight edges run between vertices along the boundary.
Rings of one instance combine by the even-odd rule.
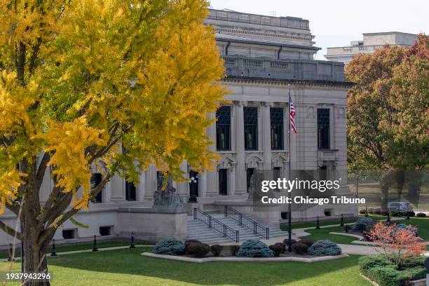
[[[350,46],[327,48],[327,60],[350,62],[355,55],[372,54],[374,50],[383,48],[388,43],[393,46],[409,47],[416,41],[416,34],[401,32],[381,32],[363,34],[363,41],[351,41]]]

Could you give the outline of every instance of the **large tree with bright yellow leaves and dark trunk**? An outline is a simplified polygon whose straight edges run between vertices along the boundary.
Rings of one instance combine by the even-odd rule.
[[[47,269],[57,228],[115,173],[210,168],[207,113],[225,90],[207,13],[204,0],[0,0],[0,205],[22,233],[0,228],[22,239],[26,272]]]

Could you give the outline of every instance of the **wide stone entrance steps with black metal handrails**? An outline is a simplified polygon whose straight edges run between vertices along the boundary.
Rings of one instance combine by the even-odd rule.
[[[251,229],[248,229],[245,226],[240,226],[238,222],[231,217],[225,217],[223,213],[220,213],[217,210],[209,210],[205,211],[205,213],[210,214],[214,219],[217,219],[219,222],[226,224],[231,229],[239,231],[240,242],[255,238],[262,239],[260,236],[254,234]],[[247,216],[248,217],[248,216]],[[252,218],[253,219],[253,218]],[[256,220],[256,219],[254,219]],[[262,224],[259,222],[259,224]],[[263,226],[267,226],[266,224],[262,224]],[[278,236],[287,236],[287,231],[280,230],[280,227],[277,226],[268,226],[270,228],[269,238],[274,238]],[[222,233],[215,231],[214,229],[209,229],[207,224],[200,222],[199,220],[193,220],[193,217],[188,217],[188,237],[187,239],[198,239],[202,243],[207,243],[210,245],[219,244],[219,243],[234,243],[233,240],[229,238],[224,238]]]

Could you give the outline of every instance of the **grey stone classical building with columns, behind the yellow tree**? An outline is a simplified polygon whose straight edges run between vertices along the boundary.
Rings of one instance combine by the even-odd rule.
[[[205,21],[216,30],[219,52],[224,58],[224,86],[231,90],[215,114],[217,122],[207,128],[215,144],[210,148],[219,153],[217,170],[198,174],[182,163],[189,182],[173,186],[188,207],[211,210],[224,205],[245,204],[250,177],[257,170],[273,170],[278,175],[292,168],[302,170],[346,170],[346,91],[349,83],[343,74],[343,63],[313,60],[320,49],[314,46],[308,20],[292,17],[268,17],[210,10]],[[288,138],[288,98],[291,93],[297,110],[298,135]],[[288,142],[291,146],[288,146]],[[288,150],[291,149],[291,154]],[[122,215],[128,207],[151,208],[160,172],[151,166],[142,172],[138,186],[115,176],[90,203],[88,212],[81,211],[75,219],[89,226],[81,229],[66,222],[55,234],[56,240],[85,240],[97,236],[121,236],[130,232],[125,226],[137,223],[133,215]],[[91,184],[97,185],[101,175],[94,170]],[[347,186],[342,186],[347,193]],[[48,171],[43,181],[41,200],[52,189]],[[196,196],[198,203],[187,203]],[[149,210],[148,210],[149,211]],[[243,209],[243,212],[245,210]],[[252,214],[247,210],[247,214]],[[317,216],[355,214],[346,206],[314,207],[293,213],[294,220]],[[1,219],[14,225],[13,214]],[[175,222],[158,222],[151,213],[139,216],[154,226],[176,227],[186,232],[186,226]],[[281,221],[280,212],[268,219]],[[159,224],[159,225],[157,225]],[[162,232],[162,231],[161,231]],[[149,238],[142,235],[142,238]],[[0,232],[0,245],[12,238]]]

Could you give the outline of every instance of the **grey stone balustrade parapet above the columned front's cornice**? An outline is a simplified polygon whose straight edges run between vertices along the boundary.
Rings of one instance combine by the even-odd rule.
[[[238,55],[226,55],[224,61],[228,77],[346,83],[342,62],[302,59],[272,60]]]

